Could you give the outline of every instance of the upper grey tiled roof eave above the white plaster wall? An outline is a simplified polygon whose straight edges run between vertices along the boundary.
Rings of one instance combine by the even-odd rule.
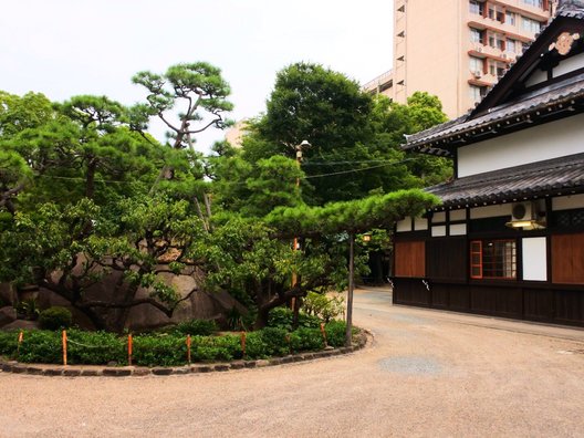
[[[511,101],[491,108],[489,113],[480,117],[466,121],[467,116],[465,115],[434,128],[407,136],[407,145],[404,148],[411,149],[456,134],[491,127],[496,123],[523,117],[552,105],[562,104],[565,101],[569,102],[567,107],[570,101],[581,98],[584,100],[584,74],[523,94],[519,101]]]

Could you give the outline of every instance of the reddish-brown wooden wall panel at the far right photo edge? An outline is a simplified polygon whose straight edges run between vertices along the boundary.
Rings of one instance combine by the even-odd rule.
[[[552,281],[584,284],[584,233],[552,236]]]

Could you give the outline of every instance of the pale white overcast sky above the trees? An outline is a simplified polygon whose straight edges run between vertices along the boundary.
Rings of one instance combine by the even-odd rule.
[[[145,97],[134,73],[207,61],[231,85],[230,117],[252,117],[275,73],[293,62],[359,83],[389,70],[392,10],[392,0],[9,0],[0,13],[0,90],[53,101],[105,94],[129,105]],[[222,136],[199,137],[198,147]]]

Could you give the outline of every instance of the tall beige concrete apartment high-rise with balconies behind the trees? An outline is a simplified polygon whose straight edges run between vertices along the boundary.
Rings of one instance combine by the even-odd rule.
[[[554,0],[394,0],[393,69],[364,85],[405,103],[436,94],[455,118],[487,93],[550,20]]]

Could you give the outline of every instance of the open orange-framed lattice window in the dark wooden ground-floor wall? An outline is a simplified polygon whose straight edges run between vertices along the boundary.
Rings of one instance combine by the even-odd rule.
[[[517,279],[514,240],[473,240],[470,242],[471,279]]]

